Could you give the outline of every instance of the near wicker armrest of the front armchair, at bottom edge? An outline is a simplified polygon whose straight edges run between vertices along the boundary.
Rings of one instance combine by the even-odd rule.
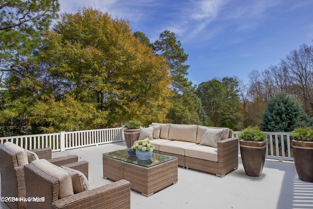
[[[53,209],[130,209],[131,185],[126,180],[120,180],[109,185],[83,191],[52,203]]]

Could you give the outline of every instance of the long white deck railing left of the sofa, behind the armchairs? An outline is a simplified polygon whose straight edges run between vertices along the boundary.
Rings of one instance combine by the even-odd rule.
[[[123,128],[60,132],[15,137],[1,137],[0,143],[11,141],[25,149],[51,147],[52,152],[123,141]]]

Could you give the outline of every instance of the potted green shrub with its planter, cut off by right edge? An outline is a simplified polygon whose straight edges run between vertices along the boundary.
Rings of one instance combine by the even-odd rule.
[[[292,154],[299,179],[313,182],[313,130],[297,128],[291,132]]]

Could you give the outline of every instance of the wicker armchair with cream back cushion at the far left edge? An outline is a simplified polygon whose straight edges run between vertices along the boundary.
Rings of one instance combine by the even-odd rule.
[[[36,149],[33,151],[40,153],[39,156],[41,157],[47,157],[48,161],[51,161],[51,163],[68,164],[76,163],[78,161],[78,156],[75,155],[52,159],[51,148],[45,148],[43,150]],[[26,150],[14,143],[5,142],[4,144],[0,144],[0,173],[2,197],[25,197],[26,192],[23,166],[24,164],[28,164],[29,161],[31,161],[31,159],[33,158],[35,158],[33,153],[27,153]],[[77,165],[75,164],[75,166]],[[86,163],[84,166],[85,168],[82,169],[83,171],[86,170]],[[26,206],[25,202],[20,201],[11,201],[6,203],[11,209],[23,209]]]

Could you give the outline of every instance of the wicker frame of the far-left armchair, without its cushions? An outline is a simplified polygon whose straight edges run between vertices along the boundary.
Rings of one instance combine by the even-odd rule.
[[[51,153],[49,149],[36,149],[35,152]],[[48,155],[48,154],[46,154]],[[39,154],[40,157],[45,157]],[[50,155],[51,156],[51,155]],[[39,157],[39,158],[40,158]],[[33,157],[28,154],[28,159]],[[55,159],[48,159],[50,163],[56,165],[64,165],[68,163],[75,163],[78,161],[78,156],[67,156]],[[75,168],[74,168],[75,169]],[[88,169],[88,162],[87,162]],[[86,163],[82,171],[86,174]],[[17,156],[14,152],[7,149],[3,144],[0,144],[0,173],[1,173],[1,196],[2,197],[26,197],[25,180],[23,165],[18,165]],[[88,176],[88,171],[87,171]],[[11,209],[24,209],[26,207],[25,202],[6,202]]]

